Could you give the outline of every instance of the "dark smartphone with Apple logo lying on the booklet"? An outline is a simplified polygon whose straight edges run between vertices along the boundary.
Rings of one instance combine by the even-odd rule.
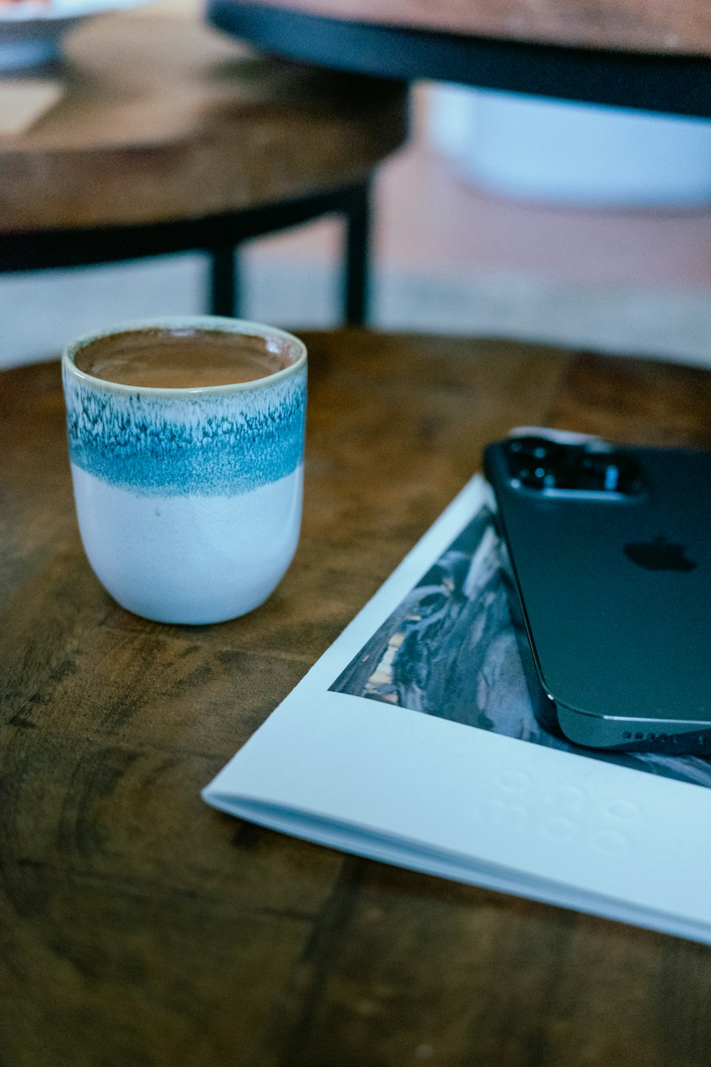
[[[711,452],[528,429],[484,471],[542,726],[711,752]]]

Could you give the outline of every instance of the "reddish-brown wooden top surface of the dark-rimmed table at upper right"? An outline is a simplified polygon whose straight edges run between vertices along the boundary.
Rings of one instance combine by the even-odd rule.
[[[711,55],[706,0],[258,0],[324,18],[503,41]]]

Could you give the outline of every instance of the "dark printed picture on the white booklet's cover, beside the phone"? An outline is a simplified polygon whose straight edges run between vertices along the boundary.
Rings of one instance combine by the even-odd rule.
[[[506,584],[492,515],[482,508],[332,691],[711,787],[711,758],[592,751],[544,729],[529,697]]]

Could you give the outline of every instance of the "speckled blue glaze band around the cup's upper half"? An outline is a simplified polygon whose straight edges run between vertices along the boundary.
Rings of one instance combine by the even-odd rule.
[[[148,496],[235,496],[302,462],[305,366],[258,389],[179,400],[63,375],[69,458],[112,485]]]

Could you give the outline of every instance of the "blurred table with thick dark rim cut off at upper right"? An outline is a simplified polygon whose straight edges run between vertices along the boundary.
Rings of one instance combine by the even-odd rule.
[[[711,117],[706,0],[208,0],[208,15],[336,69]]]

